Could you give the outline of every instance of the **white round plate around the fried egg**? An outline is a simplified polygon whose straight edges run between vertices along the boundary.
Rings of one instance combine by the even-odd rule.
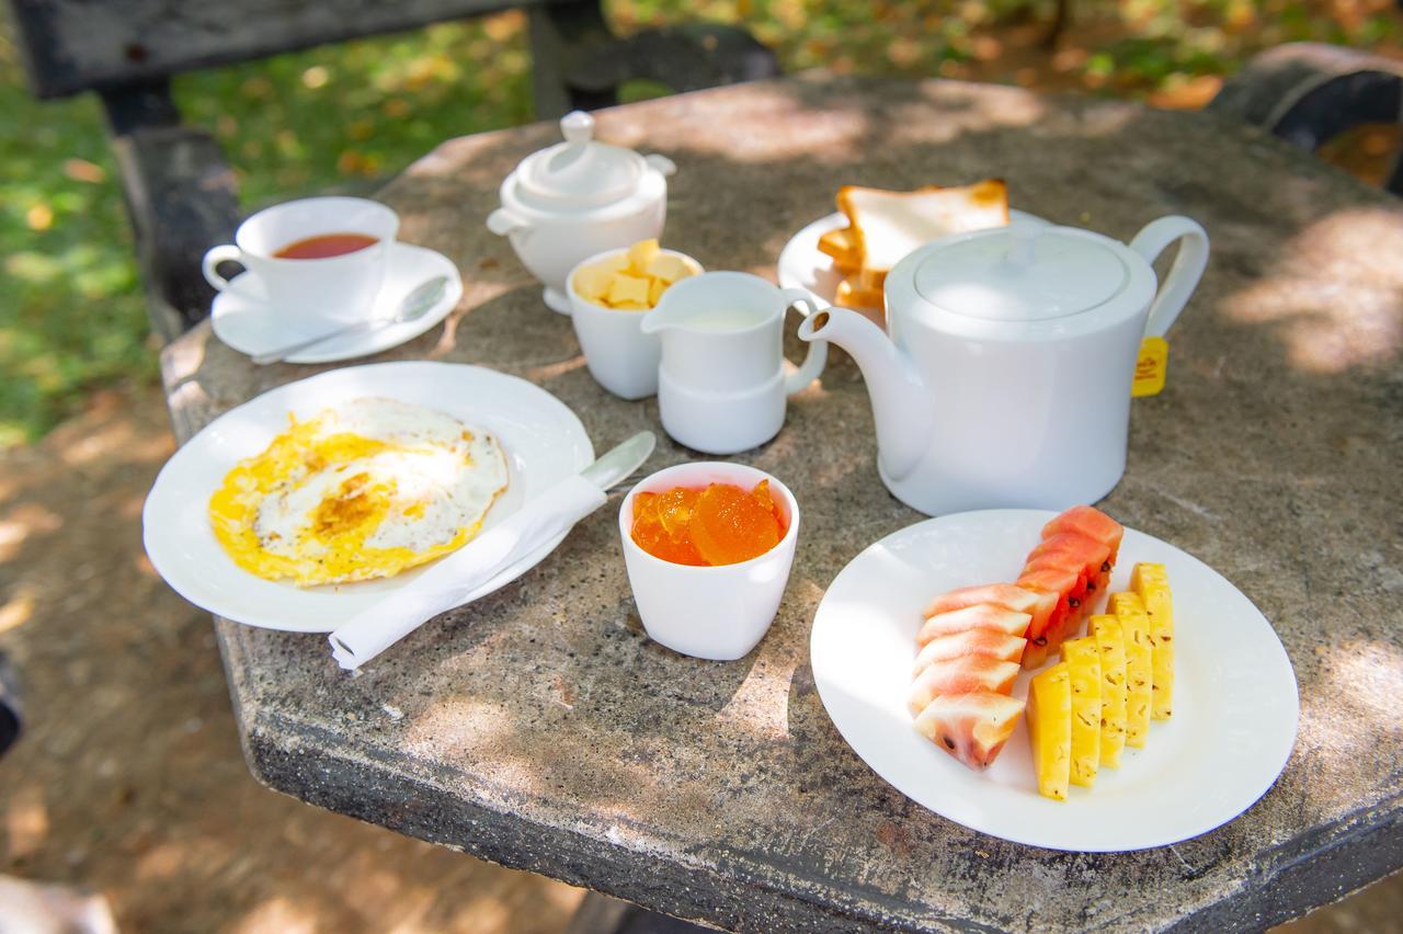
[[[302,418],[361,395],[386,395],[441,410],[492,432],[506,453],[511,482],[487,513],[484,529],[593,460],[584,425],[564,402],[526,380],[456,363],[376,363],[321,373],[244,402],[209,424],[175,452],[146,498],[146,554],[182,597],[248,625],[330,632],[347,618],[408,585],[422,568],[383,581],[297,588],[248,574],[224,553],[209,526],[209,496],[241,459],[264,450]],[[471,599],[515,581],[554,551],[561,534],[478,588]]]

